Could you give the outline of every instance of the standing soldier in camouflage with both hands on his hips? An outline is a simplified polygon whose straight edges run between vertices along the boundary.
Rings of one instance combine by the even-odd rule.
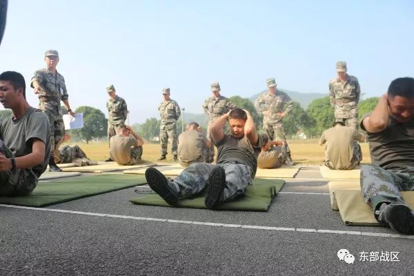
[[[262,113],[263,130],[271,141],[284,141],[286,150],[286,159],[284,164],[293,165],[290,157],[290,148],[286,141],[286,135],[283,128],[283,117],[285,117],[293,108],[293,101],[282,91],[276,89],[276,81],[273,78],[266,79],[268,92],[264,92],[257,97],[255,108],[257,112]]]

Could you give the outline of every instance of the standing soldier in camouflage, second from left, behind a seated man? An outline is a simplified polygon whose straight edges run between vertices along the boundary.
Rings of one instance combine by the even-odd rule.
[[[106,108],[108,108],[108,143],[110,137],[116,135],[117,128],[125,124],[126,116],[128,116],[128,107],[126,101],[119,97],[113,84],[106,88],[109,99],[106,102]],[[109,157],[105,161],[112,161]]]

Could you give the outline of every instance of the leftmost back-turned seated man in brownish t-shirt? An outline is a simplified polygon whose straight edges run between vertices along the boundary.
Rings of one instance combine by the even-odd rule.
[[[109,153],[118,165],[135,165],[142,156],[144,140],[130,126],[121,125],[117,135],[110,137]]]

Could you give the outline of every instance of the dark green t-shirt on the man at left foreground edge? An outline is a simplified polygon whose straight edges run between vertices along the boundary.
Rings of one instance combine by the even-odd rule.
[[[32,153],[33,139],[40,139],[46,145],[43,164],[32,167],[37,177],[46,170],[50,157],[50,125],[46,115],[36,108],[28,108],[21,117],[12,117],[1,121],[0,139],[11,150],[15,157]]]

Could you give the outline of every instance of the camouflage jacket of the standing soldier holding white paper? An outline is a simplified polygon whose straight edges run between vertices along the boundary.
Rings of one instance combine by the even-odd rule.
[[[39,101],[47,101],[60,106],[60,101],[68,99],[68,90],[66,90],[65,79],[56,71],[54,76],[48,69],[43,68],[34,72],[30,81],[30,87],[33,88],[33,81],[39,81],[41,91],[38,94]]]

